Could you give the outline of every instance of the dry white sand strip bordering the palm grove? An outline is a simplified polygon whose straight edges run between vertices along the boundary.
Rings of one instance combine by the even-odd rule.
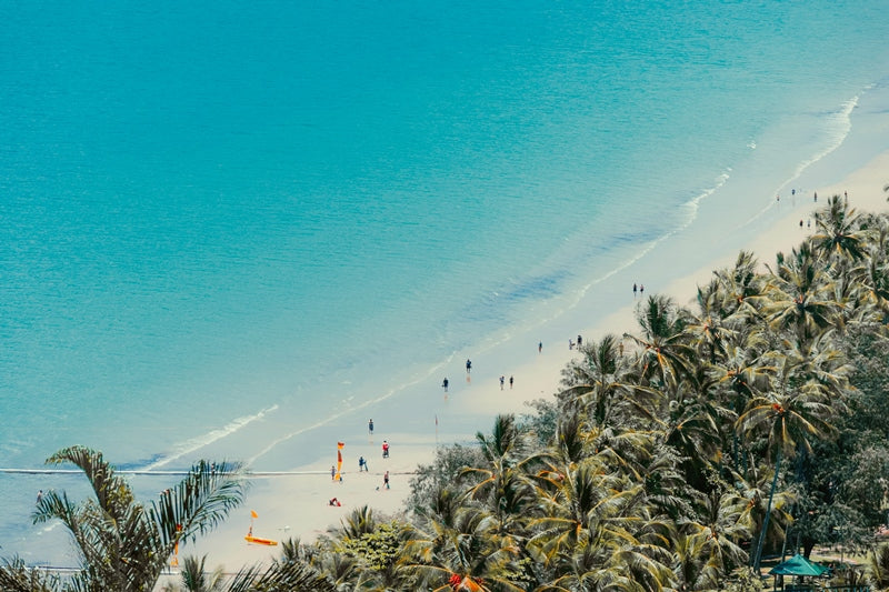
[[[741,248],[752,251],[761,263],[770,263],[776,252],[790,250],[813,230],[813,221],[811,228],[807,222],[812,218],[813,210],[823,205],[829,195],[848,194],[850,205],[859,211],[885,211],[887,194],[882,188],[888,182],[889,151],[885,151],[831,184],[812,188],[811,193],[800,192],[798,199],[780,208],[779,214],[773,215],[766,228],[743,242]],[[817,203],[812,198],[816,191],[819,197]],[[800,220],[803,221],[802,229]],[[709,244],[692,247],[711,250],[713,259],[662,287],[649,288],[647,293],[666,293],[680,304],[690,304],[696,287],[707,282],[713,270],[731,264],[738,254],[737,250],[720,251],[711,249]],[[683,253],[673,252],[671,257],[682,258]],[[609,332],[620,334],[635,331],[635,303],[641,299],[633,300],[631,283],[631,280],[621,283],[625,303],[613,307],[613,313],[590,327],[576,324],[580,327],[578,332],[585,339],[598,340]],[[424,401],[399,401],[399,417],[411,418],[403,424],[391,427],[386,425],[384,420],[377,421],[372,437],[366,429],[343,430],[346,448],[341,482],[330,476],[331,461],[336,461],[336,448],[332,445],[329,453],[313,464],[281,474],[257,476],[252,480],[247,504],[196,545],[184,545],[180,554],[206,553],[210,564],[224,565],[227,571],[237,571],[244,564],[276,556],[280,548],[249,545],[243,540],[251,523],[251,510],[259,514],[253,521],[257,536],[276,540],[299,538],[302,541],[314,540],[328,529],[338,526],[343,516],[364,504],[380,516],[397,514],[409,493],[413,470],[419,463],[432,460],[437,444],[469,442],[475,431],[489,429],[497,413],[529,411],[526,402],[549,398],[557,391],[560,371],[577,354],[577,350],[568,349],[568,340],[576,339],[573,332],[566,332],[565,340],[559,343],[545,343],[542,352],[537,351],[537,338],[530,334],[513,335],[511,339],[523,343],[522,358],[513,359],[515,363],[507,365],[501,358],[497,358],[496,349],[485,352],[490,359],[498,359],[497,368],[476,362],[471,377],[462,372],[450,377],[449,393],[446,394],[439,387],[434,395]],[[502,390],[500,375],[506,378]],[[512,388],[509,384],[510,377],[515,378]],[[382,459],[381,455],[383,440],[391,443],[389,459]],[[358,471],[359,456],[368,461],[367,472]],[[382,475],[387,470],[391,478],[391,489],[388,490],[382,486]],[[341,501],[341,506],[329,505],[329,500],[334,496]]]

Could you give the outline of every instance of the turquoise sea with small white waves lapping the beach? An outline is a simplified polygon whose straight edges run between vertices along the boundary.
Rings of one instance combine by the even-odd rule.
[[[312,460],[294,433],[550,338],[703,208],[761,215],[885,92],[888,20],[0,3],[0,468],[74,443],[133,469]],[[0,553],[41,483],[0,474]]]

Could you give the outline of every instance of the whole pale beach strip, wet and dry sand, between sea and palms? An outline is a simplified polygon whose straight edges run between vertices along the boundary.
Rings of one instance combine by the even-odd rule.
[[[881,93],[889,94],[886,90]],[[875,102],[876,108],[871,104]],[[883,103],[889,103],[889,97]],[[635,310],[641,301],[633,298],[635,282],[643,283],[648,293],[662,293],[679,305],[688,305],[693,302],[696,285],[708,281],[715,270],[731,264],[740,250],[752,251],[762,264],[771,262],[777,251],[796,247],[811,232],[805,227],[800,229],[799,220],[806,220],[813,208],[822,205],[822,200],[833,193],[848,191],[851,205],[859,211],[886,210],[887,195],[882,187],[889,183],[889,172],[883,173],[889,171],[889,142],[886,140],[889,138],[889,112],[880,111],[879,100],[868,104],[869,112],[852,113],[851,131],[838,149],[798,171],[790,180],[777,183],[777,190],[782,193],[780,202],[775,201],[775,190],[761,187],[767,182],[757,185],[756,195],[745,193],[749,203],[737,210],[761,208],[752,219],[731,218],[733,211],[725,211],[731,209],[731,199],[705,200],[697,219],[688,228],[646,245],[643,257],[609,272],[606,278],[590,279],[581,287],[579,295],[561,294],[572,305],[560,314],[520,328],[505,327],[502,334],[489,335],[490,339],[471,351],[455,351],[447,360],[447,368],[452,372],[442,371],[442,375],[432,377],[431,373],[442,368],[437,365],[426,380],[411,382],[407,393],[361,402],[338,412],[324,424],[302,430],[304,434],[288,437],[288,446],[279,446],[258,463],[244,505],[196,544],[183,544],[180,560],[187,554],[207,554],[208,565],[237,571],[243,565],[277,558],[280,548],[246,544],[243,536],[251,524],[251,511],[259,514],[253,524],[258,536],[273,540],[293,536],[303,542],[338,526],[352,510],[366,504],[378,516],[397,514],[409,494],[410,475],[418,464],[432,461],[439,444],[473,442],[475,433],[487,433],[498,413],[529,412],[527,402],[552,397],[558,390],[561,370],[577,355],[577,350],[568,348],[569,339],[582,334],[585,341],[598,341],[609,332],[618,335],[625,331],[635,332]],[[739,177],[736,181],[743,190],[751,181],[761,180]],[[806,189],[787,199],[786,192],[790,191],[787,188],[791,184]],[[822,198],[818,204],[811,201],[811,191]],[[730,193],[738,192],[738,187],[732,187]],[[541,341],[543,349],[538,352]],[[465,373],[467,358],[473,361],[471,375]],[[447,395],[440,387],[443,375],[450,381]],[[502,390],[500,375],[507,380]],[[510,377],[516,379],[512,389],[508,382]],[[367,433],[368,415],[373,417],[376,423],[372,437]],[[251,425],[250,433],[261,434],[267,421],[282,420],[264,418]],[[214,458],[237,458],[236,440],[221,446],[228,454]],[[391,456],[386,461],[380,451],[383,440],[392,445]],[[346,442],[342,482],[329,478],[338,441]],[[286,449],[296,449],[300,456],[311,455],[314,460],[294,461]],[[359,456],[368,460],[369,471],[357,471]],[[382,486],[386,470],[391,476],[390,490]],[[152,496],[159,486],[162,489],[157,479],[161,472],[152,472],[152,476],[132,476],[130,482],[140,499]],[[277,474],[269,474],[272,472]],[[76,493],[77,488],[68,491]],[[333,496],[343,505],[329,506],[328,500]],[[50,556],[61,554],[64,558],[63,561],[53,559],[53,563],[76,563],[70,546],[57,544],[61,529],[56,529],[52,535],[49,535],[50,530],[52,528],[29,530],[28,536],[32,542],[43,543],[41,549],[48,550]],[[30,559],[32,556],[26,556]]]

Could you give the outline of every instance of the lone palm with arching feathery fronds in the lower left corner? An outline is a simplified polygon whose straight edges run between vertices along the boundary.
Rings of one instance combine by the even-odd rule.
[[[144,505],[100,452],[83,446],[60,450],[48,464],[70,462],[86,474],[93,499],[74,503],[48,492],[34,523],[60,520],[80,554],[74,590],[152,590],[180,541],[194,540],[228,516],[243,500],[239,464],[200,461],[176,486]]]

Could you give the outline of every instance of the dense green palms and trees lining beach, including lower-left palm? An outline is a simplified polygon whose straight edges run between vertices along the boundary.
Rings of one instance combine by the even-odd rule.
[[[888,314],[889,217],[833,197],[789,253],[739,253],[692,307],[648,297],[636,330],[582,345],[555,400],[439,449],[402,515],[356,509],[236,578],[192,558],[172,588],[758,590],[766,560],[841,543],[869,550],[869,582],[886,589]],[[96,453],[51,461],[93,483],[96,501],[51,494],[34,514],[69,528],[82,571],[60,580],[12,559],[4,590],[150,590],[170,544],[242,492],[239,469],[203,463],[193,488],[142,506]]]

